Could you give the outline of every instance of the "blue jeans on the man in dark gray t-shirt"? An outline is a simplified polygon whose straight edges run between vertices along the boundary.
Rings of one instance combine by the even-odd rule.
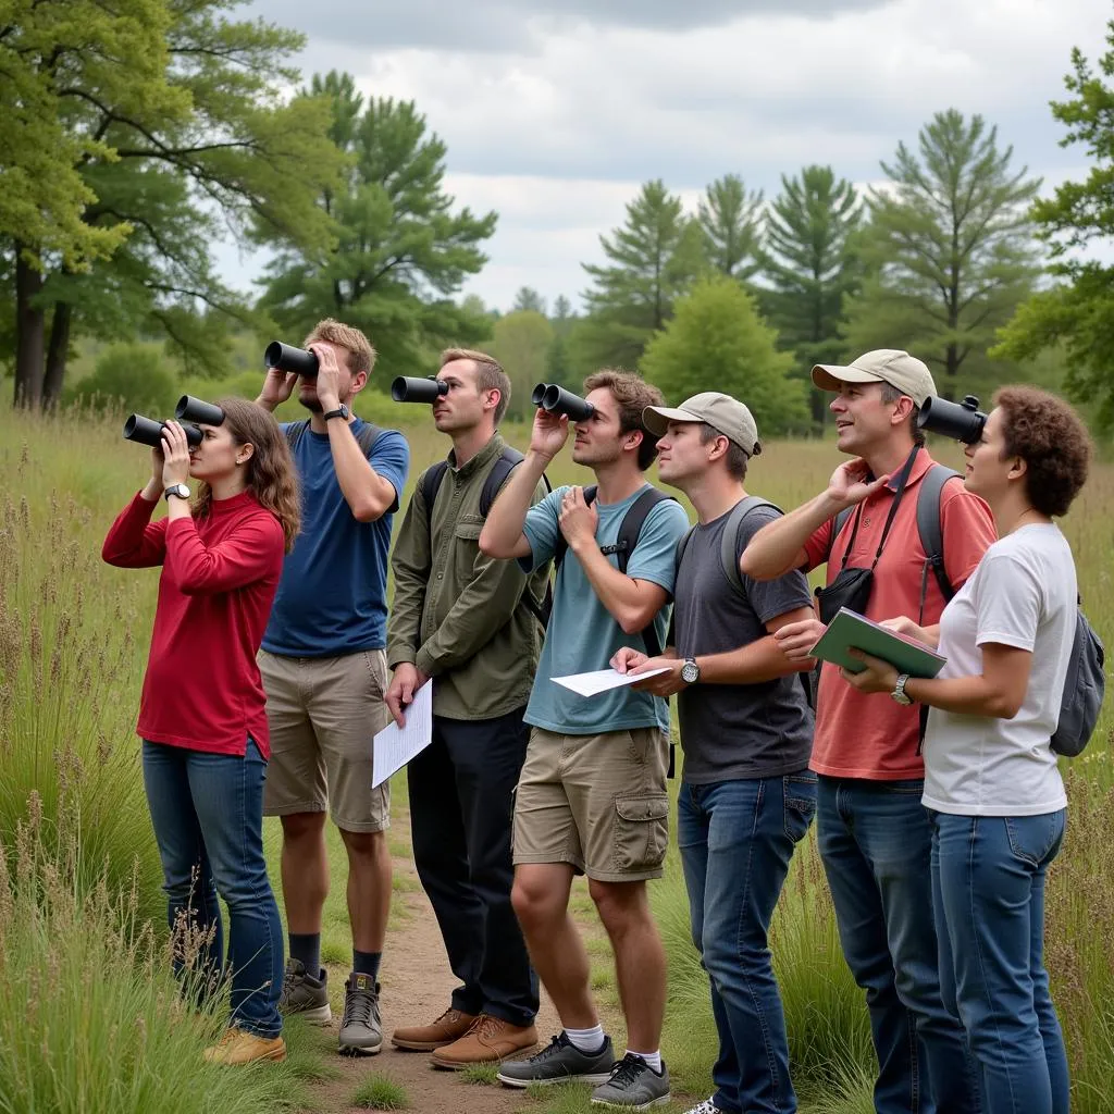
[[[793,848],[817,808],[817,776],[683,784],[677,846],[693,942],[712,984],[715,1105],[793,1114],[785,1015],[766,936]]]

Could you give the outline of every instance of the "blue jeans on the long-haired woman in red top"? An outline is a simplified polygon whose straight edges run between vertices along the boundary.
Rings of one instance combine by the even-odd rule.
[[[205,974],[218,975],[223,937],[217,893],[228,906],[232,1024],[273,1037],[282,1032],[282,922],[263,859],[263,782],[267,764],[254,740],[244,758],[162,743],[143,744],[143,778],[155,825],[167,919],[209,931]],[[180,956],[175,964],[182,970]]]

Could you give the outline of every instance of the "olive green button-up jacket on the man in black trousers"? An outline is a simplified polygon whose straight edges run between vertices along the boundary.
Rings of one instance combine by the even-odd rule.
[[[433,677],[433,714],[452,720],[491,720],[525,706],[541,647],[522,593],[540,603],[549,566],[527,576],[518,561],[479,548],[480,492],[505,447],[496,433],[462,468],[450,451],[432,517],[419,476],[391,557],[388,665],[411,662]],[[534,501],[545,495],[539,482]]]

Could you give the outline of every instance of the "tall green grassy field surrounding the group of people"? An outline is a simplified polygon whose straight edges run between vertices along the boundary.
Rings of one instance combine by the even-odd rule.
[[[379,397],[362,411],[379,422],[412,423],[411,481],[447,448],[423,408],[392,407]],[[124,442],[119,430],[119,416],[0,410],[0,840],[7,851],[0,857],[0,1111],[115,1114],[156,1103],[173,1114],[300,1108],[304,1081],[315,1072],[312,1046],[281,1072],[247,1073],[227,1087],[197,1058],[219,1014],[186,1014],[165,970],[160,872],[134,735],[157,574],[110,569],[99,559],[109,522],[148,470],[146,450]],[[525,447],[524,429],[508,436]],[[950,447],[939,456],[957,461]],[[829,443],[772,443],[755,462],[751,487],[792,507],[825,483],[838,460]],[[551,479],[583,481],[585,473],[561,458]],[[1112,524],[1114,469],[1100,465],[1065,529],[1088,614],[1107,644],[1114,638]],[[1068,836],[1048,898],[1048,964],[1067,1033],[1073,1110],[1081,1114],[1108,1111],[1114,1092],[1110,729],[1107,717],[1087,754],[1066,768]],[[404,781],[395,785],[401,799]],[[272,853],[275,836],[270,827]],[[334,853],[333,862],[341,861]],[[671,960],[664,1052],[678,1084],[707,1094],[714,1030],[675,853],[653,898]],[[325,956],[342,960],[348,948],[343,885],[334,882]],[[840,956],[813,839],[794,862],[773,951],[803,1108],[869,1111],[873,1057],[866,1013]],[[136,1072],[140,1062],[152,1072]],[[157,1098],[143,1089],[147,1075],[159,1081]]]

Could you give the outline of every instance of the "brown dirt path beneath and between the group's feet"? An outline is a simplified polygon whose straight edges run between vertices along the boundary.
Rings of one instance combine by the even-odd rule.
[[[409,818],[404,814],[393,818],[391,831],[395,838],[402,832],[409,832]],[[525,1091],[504,1087],[497,1082],[469,1082],[462,1073],[431,1067],[428,1054],[404,1053],[391,1046],[390,1034],[397,1025],[432,1020],[448,1007],[452,988],[457,986],[457,980],[449,970],[433,910],[418,885],[413,861],[395,856],[394,870],[394,909],[380,975],[383,1052],[378,1056],[358,1059],[335,1054],[339,1018],[343,1010],[344,979],[349,973],[341,966],[329,965],[334,1019],[332,1026],[317,1032],[321,1033],[323,1044],[320,1067],[335,1077],[311,1084],[315,1110],[320,1114],[354,1114],[361,1107],[353,1106],[352,1098],[358,1087],[371,1075],[401,1086],[410,1103],[408,1108],[417,1114],[457,1111],[468,1111],[469,1114],[516,1114],[519,1111],[540,1110],[540,1104]],[[580,880],[574,888],[574,908],[588,938],[597,1001],[616,1046],[622,1048],[623,1028],[620,1018],[616,1016],[614,980],[609,975],[610,957],[606,951],[606,940],[602,938],[598,922],[594,924],[595,917],[589,912],[587,903],[587,891]],[[541,994],[537,1029],[541,1044],[548,1043],[549,1037],[560,1030],[557,1012],[545,990]],[[292,1047],[294,1046],[292,1042]],[[312,1066],[305,1074],[312,1074]],[[587,1103],[585,1108],[588,1108]]]

